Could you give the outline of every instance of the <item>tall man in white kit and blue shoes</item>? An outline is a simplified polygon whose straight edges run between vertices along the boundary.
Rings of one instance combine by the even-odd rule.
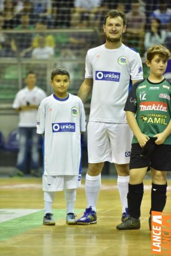
[[[129,161],[132,132],[126,122],[124,105],[129,89],[143,79],[139,53],[122,44],[126,17],[110,10],[104,20],[105,44],[90,49],[86,56],[86,74],[78,96],[85,102],[92,91],[88,123],[87,208],[78,225],[97,222],[96,204],[105,161],[115,163],[122,219],[127,214]]]

